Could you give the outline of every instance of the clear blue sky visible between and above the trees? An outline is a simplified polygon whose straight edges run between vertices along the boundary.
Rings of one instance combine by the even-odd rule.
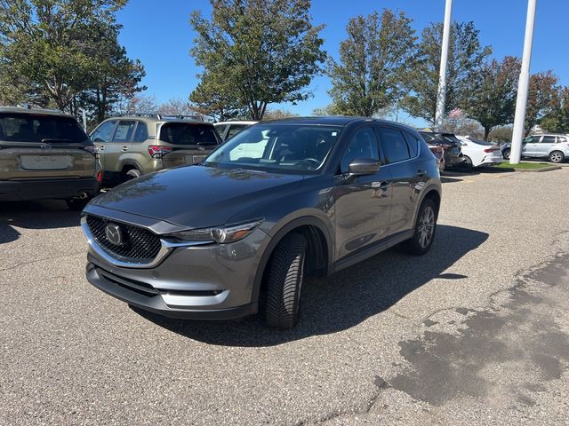
[[[189,14],[200,10],[209,15],[209,1],[163,0],[151,7],[148,5],[148,0],[130,0],[118,13],[118,21],[124,26],[120,41],[128,55],[140,59],[146,67],[143,81],[148,86],[146,94],[156,96],[159,101],[187,99],[196,86],[199,72],[188,54],[195,36],[188,24]],[[537,7],[532,72],[552,69],[560,83],[569,85],[569,2],[538,0]],[[326,25],[322,33],[325,51],[337,58],[350,17],[384,8],[404,11],[413,19],[413,28],[419,33],[429,22],[443,20],[445,0],[313,0],[314,24]],[[473,20],[480,30],[482,43],[492,45],[494,57],[521,57],[526,8],[526,0],[454,0],[453,20]],[[312,99],[284,108],[307,115],[315,107],[330,103],[327,77],[315,78],[311,89],[315,92]],[[420,120],[404,119],[422,125]]]

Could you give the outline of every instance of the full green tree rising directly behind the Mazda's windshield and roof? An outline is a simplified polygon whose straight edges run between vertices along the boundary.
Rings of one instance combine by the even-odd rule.
[[[210,3],[211,20],[198,11],[190,19],[197,33],[190,53],[204,67],[201,86],[190,95],[196,106],[210,107],[204,93],[220,93],[260,120],[269,104],[295,105],[312,95],[307,87],[320,72],[325,51],[323,26],[310,22],[310,0]]]

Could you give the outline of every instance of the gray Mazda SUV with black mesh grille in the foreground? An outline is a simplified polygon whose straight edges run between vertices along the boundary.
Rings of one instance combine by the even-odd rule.
[[[426,253],[441,201],[416,130],[354,117],[243,130],[197,166],[117,186],[84,209],[87,279],[142,310],[294,327],[304,276],[400,244]]]

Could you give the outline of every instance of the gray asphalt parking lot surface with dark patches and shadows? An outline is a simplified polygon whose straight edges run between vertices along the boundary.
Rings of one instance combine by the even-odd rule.
[[[64,203],[0,204],[0,424],[567,424],[569,168],[443,181],[428,255],[309,280],[286,332],[135,312]]]

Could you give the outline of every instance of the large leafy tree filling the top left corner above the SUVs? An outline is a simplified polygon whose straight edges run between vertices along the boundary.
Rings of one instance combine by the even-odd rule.
[[[92,27],[116,28],[126,0],[0,0],[0,57],[11,75],[36,83],[65,109],[86,88],[96,60]]]

